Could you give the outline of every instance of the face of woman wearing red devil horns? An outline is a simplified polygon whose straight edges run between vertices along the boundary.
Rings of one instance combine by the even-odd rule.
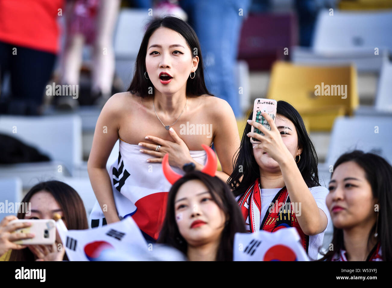
[[[200,180],[181,185],[174,199],[174,214],[178,230],[188,245],[220,241],[226,217]]]

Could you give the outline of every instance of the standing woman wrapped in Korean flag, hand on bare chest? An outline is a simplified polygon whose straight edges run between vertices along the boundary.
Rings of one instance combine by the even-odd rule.
[[[170,129],[169,129],[170,128]],[[192,28],[175,17],[153,20],[140,45],[128,92],[113,95],[98,118],[88,172],[98,202],[91,226],[132,216],[146,239],[158,238],[171,185],[162,158],[178,173],[192,162],[200,170],[214,142],[224,181],[240,145],[229,104],[206,89],[200,45]],[[120,138],[108,174],[107,158]]]

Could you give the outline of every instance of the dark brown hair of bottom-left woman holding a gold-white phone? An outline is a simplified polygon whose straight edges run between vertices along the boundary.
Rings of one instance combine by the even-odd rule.
[[[69,230],[88,229],[86,210],[83,205],[82,198],[71,186],[61,181],[46,181],[36,184],[27,192],[23,198],[22,203],[28,203],[37,192],[44,190],[52,194],[54,199],[60,205],[64,213],[64,223]],[[22,209],[20,210],[22,211]],[[16,216],[19,219],[25,218],[25,212],[19,212]],[[34,261],[34,254],[29,248],[22,250],[12,250],[10,261]],[[65,254],[64,260],[68,261]]]

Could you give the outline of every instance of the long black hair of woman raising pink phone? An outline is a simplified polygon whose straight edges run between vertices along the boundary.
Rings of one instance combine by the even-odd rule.
[[[301,159],[298,163],[298,169],[308,187],[320,186],[318,178],[318,159],[316,149],[312,139],[310,139],[305,124],[298,111],[286,101],[278,101],[276,114],[285,116],[292,123],[298,135],[298,146],[301,147]],[[249,113],[249,120],[252,120],[253,110]],[[239,152],[234,160],[234,169],[227,184],[233,190],[235,196],[241,195],[260,178],[259,166],[253,156],[252,143],[247,134],[250,132],[251,125],[247,124],[242,134]],[[241,177],[243,178],[241,179]],[[241,180],[240,180],[241,179]]]

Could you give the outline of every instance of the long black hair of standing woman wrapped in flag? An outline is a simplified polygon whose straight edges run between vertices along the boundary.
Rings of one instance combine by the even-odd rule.
[[[196,33],[192,29],[192,27],[189,26],[189,24],[187,24],[180,18],[173,16],[156,18],[148,24],[147,30],[143,36],[142,43],[140,44],[138,56],[136,57],[134,76],[131,85],[129,85],[128,91],[134,95],[144,98],[150,95],[148,93],[149,87],[152,87],[152,94],[154,94],[154,85],[152,85],[150,79],[145,78],[144,72],[146,72],[145,59],[147,54],[147,45],[152,33],[154,33],[154,31],[159,27],[166,27],[180,33],[184,37],[189,48],[191,49],[192,57],[194,58],[196,57],[196,55],[199,56],[199,65],[198,69],[196,70],[196,76],[194,79],[188,78],[187,81],[187,95],[190,94],[192,96],[200,96],[207,94],[213,96],[207,90],[207,87],[205,87],[203,57],[201,56],[200,43],[196,36]]]

